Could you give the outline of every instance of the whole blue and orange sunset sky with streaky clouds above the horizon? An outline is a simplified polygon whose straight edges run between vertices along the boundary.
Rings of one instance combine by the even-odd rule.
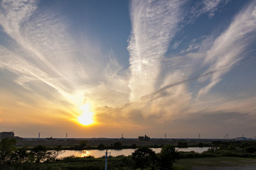
[[[255,138],[256,1],[1,0],[0,131]]]

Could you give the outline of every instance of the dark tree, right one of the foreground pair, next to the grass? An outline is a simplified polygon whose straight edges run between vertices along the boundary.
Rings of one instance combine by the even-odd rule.
[[[164,169],[171,169],[174,162],[178,160],[179,154],[172,145],[164,145],[159,154],[159,166]]]

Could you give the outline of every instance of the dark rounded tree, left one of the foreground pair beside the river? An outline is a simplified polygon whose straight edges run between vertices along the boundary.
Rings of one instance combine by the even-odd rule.
[[[140,147],[132,153],[132,161],[135,168],[144,169],[147,166],[154,167],[156,164],[156,153],[148,147]]]

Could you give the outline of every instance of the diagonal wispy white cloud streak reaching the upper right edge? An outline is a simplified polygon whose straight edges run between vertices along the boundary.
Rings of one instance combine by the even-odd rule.
[[[222,72],[214,72],[209,77],[203,77],[200,81],[210,79],[210,83],[198,91],[198,97],[207,94],[221,77],[229,72],[233,66],[246,56],[247,47],[255,40],[256,11],[255,2],[243,9],[236,16],[227,30],[214,40],[213,46],[206,52],[204,65],[208,66],[206,72],[214,72],[223,69]]]

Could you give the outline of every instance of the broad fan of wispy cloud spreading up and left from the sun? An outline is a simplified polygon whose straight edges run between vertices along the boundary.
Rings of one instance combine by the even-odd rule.
[[[122,65],[114,53],[104,54],[97,42],[75,42],[68,32],[68,22],[37,4],[1,2],[0,25],[9,39],[0,46],[0,67],[16,74],[14,81],[28,93],[50,86],[41,95],[55,99],[61,95],[76,108],[85,101],[103,106],[127,102],[129,89],[123,88],[127,75],[120,73]],[[107,100],[105,96],[110,95],[121,96],[122,100]]]

